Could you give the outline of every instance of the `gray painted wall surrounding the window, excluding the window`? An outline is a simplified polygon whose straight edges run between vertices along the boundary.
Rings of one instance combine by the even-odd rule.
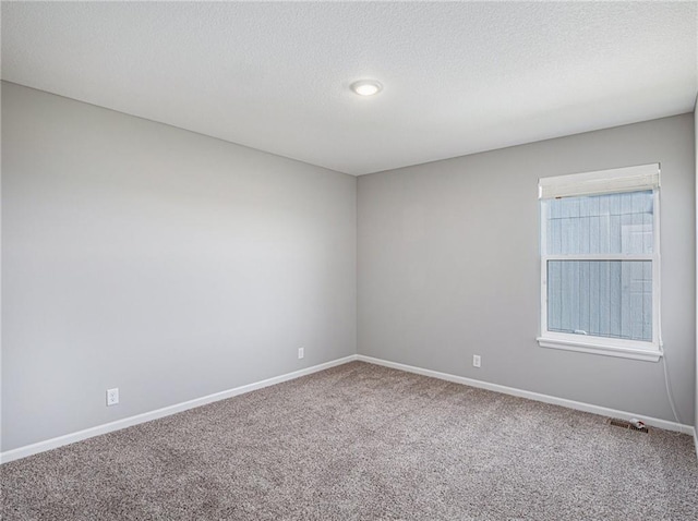
[[[693,424],[694,148],[684,114],[359,178],[359,353],[673,420],[660,363],[535,342],[538,178],[661,162],[664,348]]]

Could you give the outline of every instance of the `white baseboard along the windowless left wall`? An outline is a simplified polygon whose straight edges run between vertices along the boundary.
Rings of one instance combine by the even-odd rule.
[[[77,431],[76,433],[65,434],[57,438],[47,439],[45,441],[39,441],[32,445],[25,445],[24,447],[19,447],[16,449],[0,452],[0,463],[7,463],[10,461],[19,460],[21,458],[26,458],[27,456],[45,452],[47,450],[56,449],[58,447],[62,447],[69,444],[74,444],[75,441],[81,441],[83,439],[92,438],[94,436],[99,436],[101,434],[111,433],[113,431],[120,431],[122,428],[130,427],[132,425],[137,425],[140,423],[157,420],[158,417],[169,416],[170,414],[176,414],[178,412],[186,411],[188,409],[205,405],[206,403],[212,403],[214,401],[225,400],[226,398],[232,398],[233,396],[238,396],[238,395],[244,395],[245,392],[250,392],[253,390],[262,389],[264,387],[280,384],[282,381],[300,378],[301,376],[306,376],[313,373],[317,373],[318,371],[328,369],[329,367],[334,367],[336,365],[353,362],[354,360],[357,360],[357,355],[351,354],[342,359],[325,362],[324,364],[313,365],[312,367],[306,367],[304,369],[294,371],[292,373],[275,376],[273,378],[267,378],[261,381],[255,381],[254,384],[248,384],[245,386],[234,387],[232,389],[215,392],[213,395],[208,395],[202,398],[196,398],[194,400],[189,400],[182,403],[176,403],[174,405],[164,407],[163,409],[144,412],[143,414],[136,414],[135,416],[124,417],[122,420],[117,420],[116,422],[105,423],[103,425],[85,428],[84,431]]]

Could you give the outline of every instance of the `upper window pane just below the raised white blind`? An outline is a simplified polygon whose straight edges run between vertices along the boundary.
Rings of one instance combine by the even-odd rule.
[[[652,191],[543,202],[544,255],[651,254]]]

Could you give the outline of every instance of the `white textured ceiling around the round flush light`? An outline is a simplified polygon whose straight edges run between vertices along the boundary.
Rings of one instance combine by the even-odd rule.
[[[362,174],[691,111],[697,7],[3,2],[2,78]]]

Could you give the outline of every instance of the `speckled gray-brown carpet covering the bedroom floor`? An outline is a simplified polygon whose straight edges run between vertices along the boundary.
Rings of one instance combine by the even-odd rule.
[[[689,436],[361,362],[2,465],[11,520],[696,520]]]

